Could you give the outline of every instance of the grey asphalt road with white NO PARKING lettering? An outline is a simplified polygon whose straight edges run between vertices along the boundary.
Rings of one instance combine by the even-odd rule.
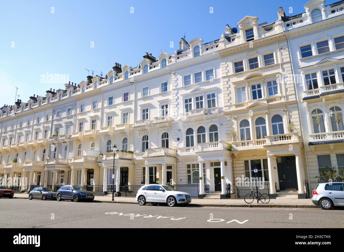
[[[0,199],[0,213],[0,228],[344,227],[344,209],[193,206],[171,208],[150,204],[139,206],[2,198]]]

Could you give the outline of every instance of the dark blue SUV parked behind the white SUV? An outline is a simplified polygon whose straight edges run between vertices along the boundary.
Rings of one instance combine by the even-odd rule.
[[[71,201],[78,202],[80,200],[94,200],[94,193],[92,191],[87,191],[82,186],[62,186],[60,189],[57,190],[56,194],[57,201],[61,201],[62,199],[70,199]]]

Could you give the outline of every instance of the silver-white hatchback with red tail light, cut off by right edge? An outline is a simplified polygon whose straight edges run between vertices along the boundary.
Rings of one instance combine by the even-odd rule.
[[[312,202],[328,210],[333,206],[344,206],[344,184],[341,182],[321,183],[312,192]]]

